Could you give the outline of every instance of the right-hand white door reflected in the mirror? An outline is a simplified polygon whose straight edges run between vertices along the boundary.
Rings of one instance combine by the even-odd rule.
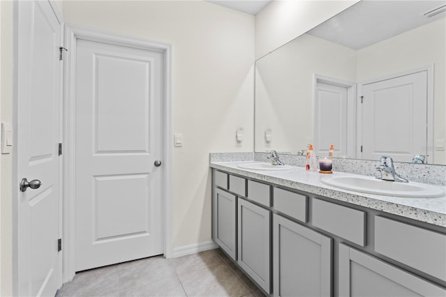
[[[362,158],[411,162],[427,151],[427,71],[362,86]]]

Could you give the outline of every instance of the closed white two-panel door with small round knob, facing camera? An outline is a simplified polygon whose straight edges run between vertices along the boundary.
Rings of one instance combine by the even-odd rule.
[[[77,40],[76,271],[163,253],[163,61]]]

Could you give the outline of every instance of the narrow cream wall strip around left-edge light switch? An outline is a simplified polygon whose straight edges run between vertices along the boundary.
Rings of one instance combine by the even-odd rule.
[[[13,119],[13,2],[0,1],[1,6],[1,75],[0,105],[2,122]],[[0,282],[1,296],[12,296],[13,254],[13,157],[0,156]]]

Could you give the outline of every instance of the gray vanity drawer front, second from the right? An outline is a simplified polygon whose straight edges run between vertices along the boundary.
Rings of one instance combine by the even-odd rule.
[[[357,245],[366,245],[366,213],[353,208],[313,199],[313,226],[345,238]]]

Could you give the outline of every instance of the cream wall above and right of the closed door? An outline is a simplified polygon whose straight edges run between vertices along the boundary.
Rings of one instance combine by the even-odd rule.
[[[206,1],[63,1],[63,17],[173,45],[173,124],[184,142],[174,149],[174,248],[210,241],[208,155],[253,148],[254,16]]]

